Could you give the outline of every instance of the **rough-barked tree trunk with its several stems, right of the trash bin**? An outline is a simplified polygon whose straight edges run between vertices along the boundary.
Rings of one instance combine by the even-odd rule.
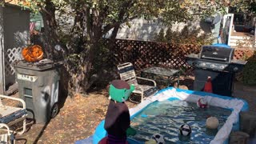
[[[130,2],[126,2],[124,7],[130,7]],[[102,76],[100,70],[95,70],[94,60],[100,51],[102,42],[102,26],[107,17],[105,9],[96,10],[93,6],[77,5],[74,29],[71,31],[74,38],[68,44],[70,52],[74,54],[74,59],[68,60],[67,70],[70,72],[70,88],[74,93],[86,93],[86,90]],[[126,15],[126,10],[121,10],[118,15],[118,22],[114,25],[114,31],[111,36],[112,46],[114,46],[115,37],[118,34],[118,28],[122,19]],[[58,44],[58,25],[55,21],[55,7],[51,0],[46,0],[46,6],[42,7],[42,18],[44,22],[44,43],[47,58],[58,58],[54,46]],[[74,34],[73,34],[74,33]],[[110,46],[110,47],[112,47]],[[71,55],[71,54],[70,54]],[[76,56],[77,55],[77,56]],[[74,61],[73,61],[74,60]],[[93,74],[95,73],[95,74]]]

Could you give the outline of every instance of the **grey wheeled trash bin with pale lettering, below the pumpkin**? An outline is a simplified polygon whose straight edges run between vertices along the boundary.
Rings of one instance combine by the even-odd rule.
[[[46,123],[58,114],[59,67],[62,62],[14,62],[19,96],[26,102],[28,117]]]

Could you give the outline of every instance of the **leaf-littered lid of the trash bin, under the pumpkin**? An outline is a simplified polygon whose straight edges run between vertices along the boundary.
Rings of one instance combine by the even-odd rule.
[[[20,60],[13,63],[14,67],[38,71],[49,70],[60,65],[62,65],[62,62],[53,62],[52,60],[46,58],[38,62],[26,62],[24,60]]]

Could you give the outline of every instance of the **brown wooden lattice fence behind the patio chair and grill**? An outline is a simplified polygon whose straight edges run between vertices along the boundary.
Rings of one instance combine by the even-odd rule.
[[[112,66],[132,62],[137,71],[150,66],[190,71],[192,68],[186,63],[186,55],[198,54],[201,46],[116,39],[114,47],[110,50],[109,62]],[[250,58],[253,54],[254,50],[236,49],[234,59]]]

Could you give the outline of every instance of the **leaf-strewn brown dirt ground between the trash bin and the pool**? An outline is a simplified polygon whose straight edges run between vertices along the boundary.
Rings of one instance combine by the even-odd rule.
[[[189,89],[193,78],[181,80]],[[183,87],[186,87],[183,86]],[[15,94],[18,96],[18,94]],[[235,82],[234,97],[245,99],[251,111],[256,111],[256,86],[243,86]],[[96,126],[105,118],[108,106],[107,90],[91,92],[87,96],[75,95],[66,98],[59,114],[46,124],[28,124],[26,134],[17,135],[17,143],[74,143],[94,134]],[[128,107],[136,104],[126,102]]]

